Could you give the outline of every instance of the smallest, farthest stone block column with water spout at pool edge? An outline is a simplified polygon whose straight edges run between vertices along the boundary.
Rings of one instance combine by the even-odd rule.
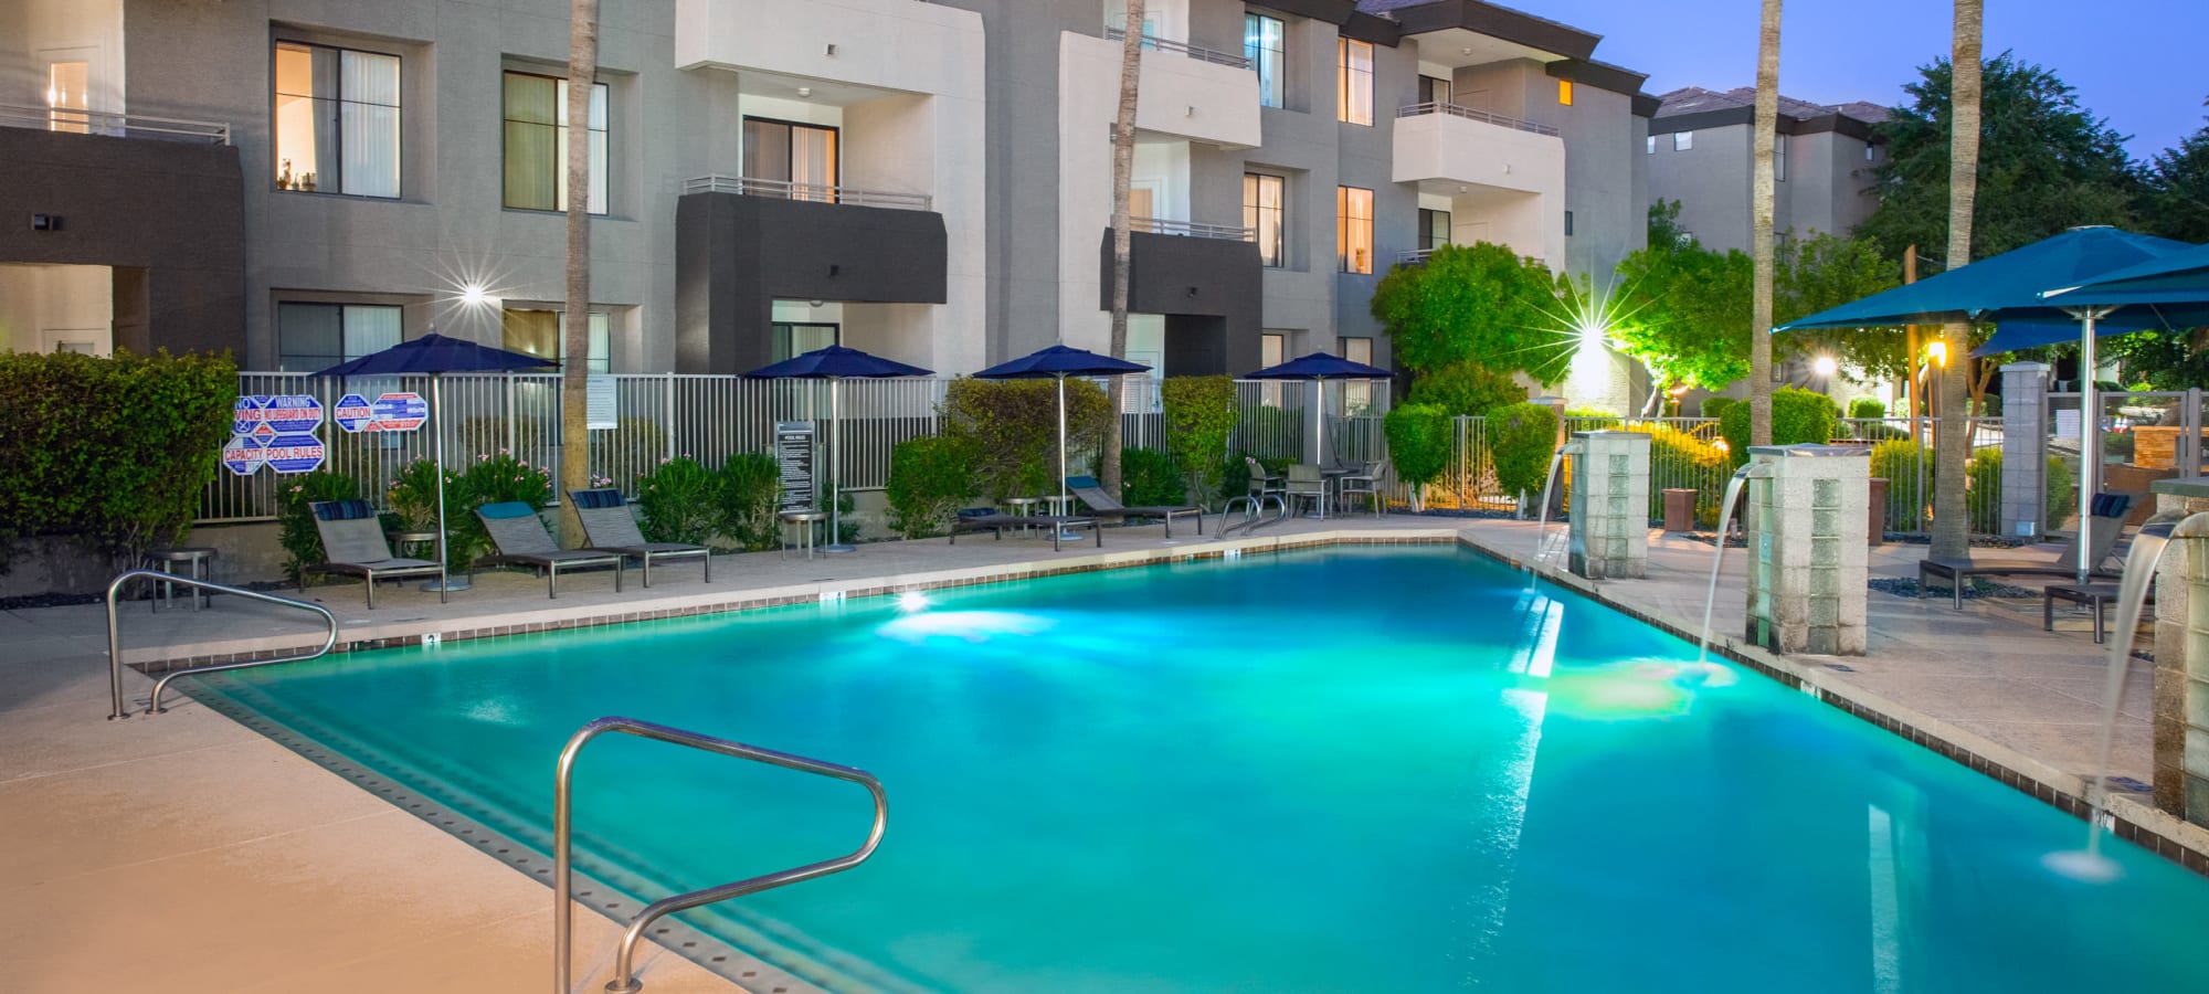
[[[1641,579],[1650,561],[1650,435],[1575,431],[1571,570]]]

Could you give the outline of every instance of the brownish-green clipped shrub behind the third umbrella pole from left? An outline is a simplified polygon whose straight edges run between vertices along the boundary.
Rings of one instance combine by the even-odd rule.
[[[974,455],[974,475],[996,501],[1058,493],[1058,382],[952,380],[943,435]],[[1093,453],[1111,426],[1111,400],[1089,380],[1067,380],[1067,448]]]

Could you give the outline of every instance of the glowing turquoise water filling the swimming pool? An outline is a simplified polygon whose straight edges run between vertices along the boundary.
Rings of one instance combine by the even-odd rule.
[[[2209,881],[2114,839],[2116,884],[2054,877],[2079,822],[1761,676],[1683,674],[1692,645],[1471,552],[926,601],[208,685],[537,848],[561,742],[607,713],[868,769],[873,861],[696,919],[855,985],[2209,990]],[[610,736],[577,813],[588,870],[663,897],[839,855],[868,804]]]

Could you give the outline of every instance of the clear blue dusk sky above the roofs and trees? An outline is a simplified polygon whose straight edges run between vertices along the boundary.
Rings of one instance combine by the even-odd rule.
[[[1756,0],[1500,0],[1604,35],[1595,57],[1648,73],[1648,91],[1756,86]],[[1900,104],[1917,66],[1948,53],[1942,0],[1791,0],[1780,91],[1818,104]],[[1986,55],[2052,68],[2136,159],[2202,128],[2209,0],[1986,0]]]

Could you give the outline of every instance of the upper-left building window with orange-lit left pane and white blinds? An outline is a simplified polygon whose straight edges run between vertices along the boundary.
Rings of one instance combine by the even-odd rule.
[[[276,188],[400,194],[400,57],[276,42]]]

